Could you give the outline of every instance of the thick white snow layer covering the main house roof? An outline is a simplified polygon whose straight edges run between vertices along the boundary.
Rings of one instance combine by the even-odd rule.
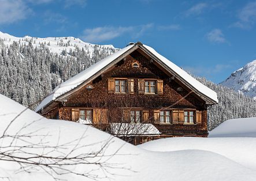
[[[175,65],[174,63],[170,62],[164,56],[158,54],[153,48],[142,45],[141,43],[131,44],[112,55],[107,56],[106,58],[102,59],[101,61],[95,63],[94,65],[88,67],[86,70],[81,71],[81,73],[77,74],[76,76],[70,78],[69,80],[63,82],[62,84],[58,85],[49,96],[47,96],[42,103],[38,105],[36,108],[36,112],[44,108],[47,104],[51,103],[54,100],[57,100],[58,97],[64,95],[65,93],[71,91],[72,89],[77,88],[79,85],[83,84],[85,81],[90,79],[92,76],[97,74],[99,71],[102,71],[108,65],[110,65],[113,61],[117,58],[131,50],[135,46],[140,46],[146,48],[151,54],[157,57],[161,63],[164,63],[166,67],[173,71],[177,76],[181,77],[183,82],[187,82],[191,88],[194,88],[196,91],[201,93],[202,95],[208,97],[213,102],[218,103],[217,93],[214,92],[212,89],[208,88],[207,86],[203,85],[201,82],[195,80],[195,78],[191,77],[187,72],[181,69],[179,66]]]

